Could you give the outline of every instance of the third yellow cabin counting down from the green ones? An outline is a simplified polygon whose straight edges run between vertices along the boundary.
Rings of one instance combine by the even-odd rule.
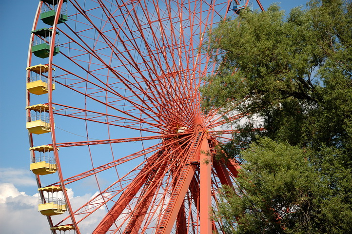
[[[34,154],[31,158],[30,170],[36,175],[48,175],[55,173],[58,169],[54,157],[50,157],[50,152],[54,150],[53,146],[40,145],[32,147]]]

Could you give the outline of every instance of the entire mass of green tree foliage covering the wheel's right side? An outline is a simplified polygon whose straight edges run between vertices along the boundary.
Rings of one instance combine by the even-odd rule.
[[[217,73],[201,88],[204,111],[244,113],[265,129],[231,123],[243,131],[222,152],[243,169],[216,214],[225,233],[350,233],[352,3],[243,10],[206,39]]]

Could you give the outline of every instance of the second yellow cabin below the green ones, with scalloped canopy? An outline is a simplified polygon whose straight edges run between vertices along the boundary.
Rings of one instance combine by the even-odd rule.
[[[47,116],[47,112],[49,111],[48,105],[37,104],[27,106],[26,110],[30,111],[26,123],[26,128],[30,133],[43,134],[51,131],[49,117]]]

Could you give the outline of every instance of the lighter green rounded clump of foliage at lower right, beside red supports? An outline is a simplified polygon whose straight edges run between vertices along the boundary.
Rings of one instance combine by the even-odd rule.
[[[298,147],[263,138],[242,152],[236,193],[230,188],[220,203],[224,233],[286,233],[309,226],[318,179]],[[228,202],[225,202],[225,199]],[[234,217],[239,225],[233,226]],[[299,233],[299,232],[296,232]]]

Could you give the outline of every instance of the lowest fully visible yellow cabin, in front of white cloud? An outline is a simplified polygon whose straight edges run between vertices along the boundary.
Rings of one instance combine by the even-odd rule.
[[[62,188],[59,186],[50,186],[38,189],[42,193],[39,195],[38,211],[42,215],[61,215],[66,211],[66,202],[63,198]]]

